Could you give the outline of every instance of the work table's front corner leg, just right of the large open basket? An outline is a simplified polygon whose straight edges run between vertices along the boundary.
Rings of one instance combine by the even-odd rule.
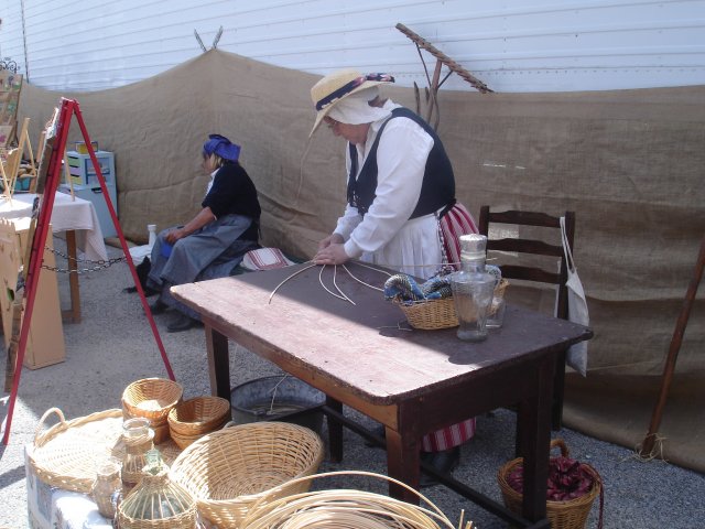
[[[420,465],[416,436],[414,434],[402,435],[387,428],[387,472],[389,476],[419,489]],[[389,495],[392,498],[419,505],[419,496],[393,483],[389,484]]]

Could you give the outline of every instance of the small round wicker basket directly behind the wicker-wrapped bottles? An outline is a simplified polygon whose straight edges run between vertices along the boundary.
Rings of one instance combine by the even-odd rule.
[[[152,428],[166,422],[171,409],[181,402],[184,389],[165,378],[143,378],[122,392],[122,408],[130,417],[144,417]]]

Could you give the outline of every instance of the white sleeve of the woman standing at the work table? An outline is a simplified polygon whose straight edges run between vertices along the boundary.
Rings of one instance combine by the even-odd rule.
[[[419,202],[433,138],[409,118],[387,123],[377,149],[375,199],[345,244],[351,258],[387,245],[404,225]]]

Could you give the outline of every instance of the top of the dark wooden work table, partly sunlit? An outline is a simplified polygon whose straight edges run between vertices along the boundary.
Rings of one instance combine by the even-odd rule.
[[[592,337],[587,327],[512,305],[503,326],[481,343],[459,341],[456,328],[410,331],[398,306],[360,282],[381,288],[388,274],[355,262],[346,268],[351,276],[337,267],[335,282],[333,267],[297,264],[182,284],[172,293],[245,347],[257,344],[261,356],[325,375],[377,404],[478,379]],[[337,284],[355,304],[321,282],[335,293]]]

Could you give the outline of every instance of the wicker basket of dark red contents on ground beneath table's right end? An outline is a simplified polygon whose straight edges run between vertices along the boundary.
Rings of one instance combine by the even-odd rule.
[[[568,450],[561,439],[551,441],[551,447],[558,446],[561,455],[567,456]],[[522,457],[517,457],[502,465],[497,473],[497,481],[502,492],[505,505],[513,512],[521,514],[522,494],[509,485],[507,478],[512,471],[523,463]],[[582,529],[593,507],[593,501],[600,494],[603,481],[595,468],[585,463],[581,467],[593,477],[593,488],[584,496],[567,501],[546,501],[546,518],[551,521],[552,529]],[[601,509],[601,506],[600,506]],[[601,516],[600,516],[601,518]],[[600,523],[601,525],[601,523]]]

